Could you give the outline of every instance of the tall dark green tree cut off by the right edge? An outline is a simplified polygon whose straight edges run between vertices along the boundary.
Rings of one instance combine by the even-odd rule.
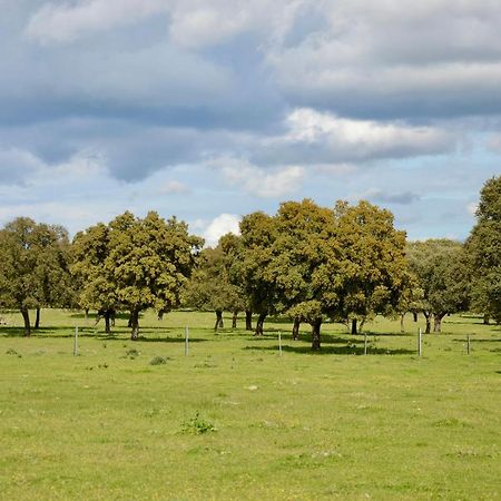
[[[472,269],[472,307],[501,323],[501,176],[480,194],[477,224],[466,242]]]

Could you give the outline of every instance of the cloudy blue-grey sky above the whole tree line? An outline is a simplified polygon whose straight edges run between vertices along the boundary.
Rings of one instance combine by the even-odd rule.
[[[0,0],[0,224],[131,210],[213,245],[367,199],[463,239],[501,174],[499,0]]]

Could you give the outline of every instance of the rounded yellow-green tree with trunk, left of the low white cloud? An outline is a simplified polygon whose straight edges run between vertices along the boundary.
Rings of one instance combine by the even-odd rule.
[[[126,212],[108,226],[98,224],[73,240],[73,273],[84,286],[86,307],[130,312],[131,337],[138,335],[139,312],[168,312],[180,303],[203,240],[185,223],[150,212],[137,218]]]

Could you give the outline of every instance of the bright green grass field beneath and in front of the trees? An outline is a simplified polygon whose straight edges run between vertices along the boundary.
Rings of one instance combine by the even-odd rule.
[[[363,335],[338,324],[313,354],[307,328],[293,342],[278,321],[254,338],[215,335],[208,313],[148,313],[130,342],[125,318],[106,336],[43,311],[23,338],[21,316],[1,316],[1,499],[501,497],[501,328],[480,318],[445,318],[419,358],[410,317],[406,335],[367,325],[364,356]]]

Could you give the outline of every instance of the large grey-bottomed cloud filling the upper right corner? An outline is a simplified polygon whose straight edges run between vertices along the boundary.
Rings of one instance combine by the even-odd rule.
[[[453,9],[448,0],[307,4],[316,26],[265,56],[291,99],[358,116],[468,115],[499,102],[498,2],[464,0]]]

